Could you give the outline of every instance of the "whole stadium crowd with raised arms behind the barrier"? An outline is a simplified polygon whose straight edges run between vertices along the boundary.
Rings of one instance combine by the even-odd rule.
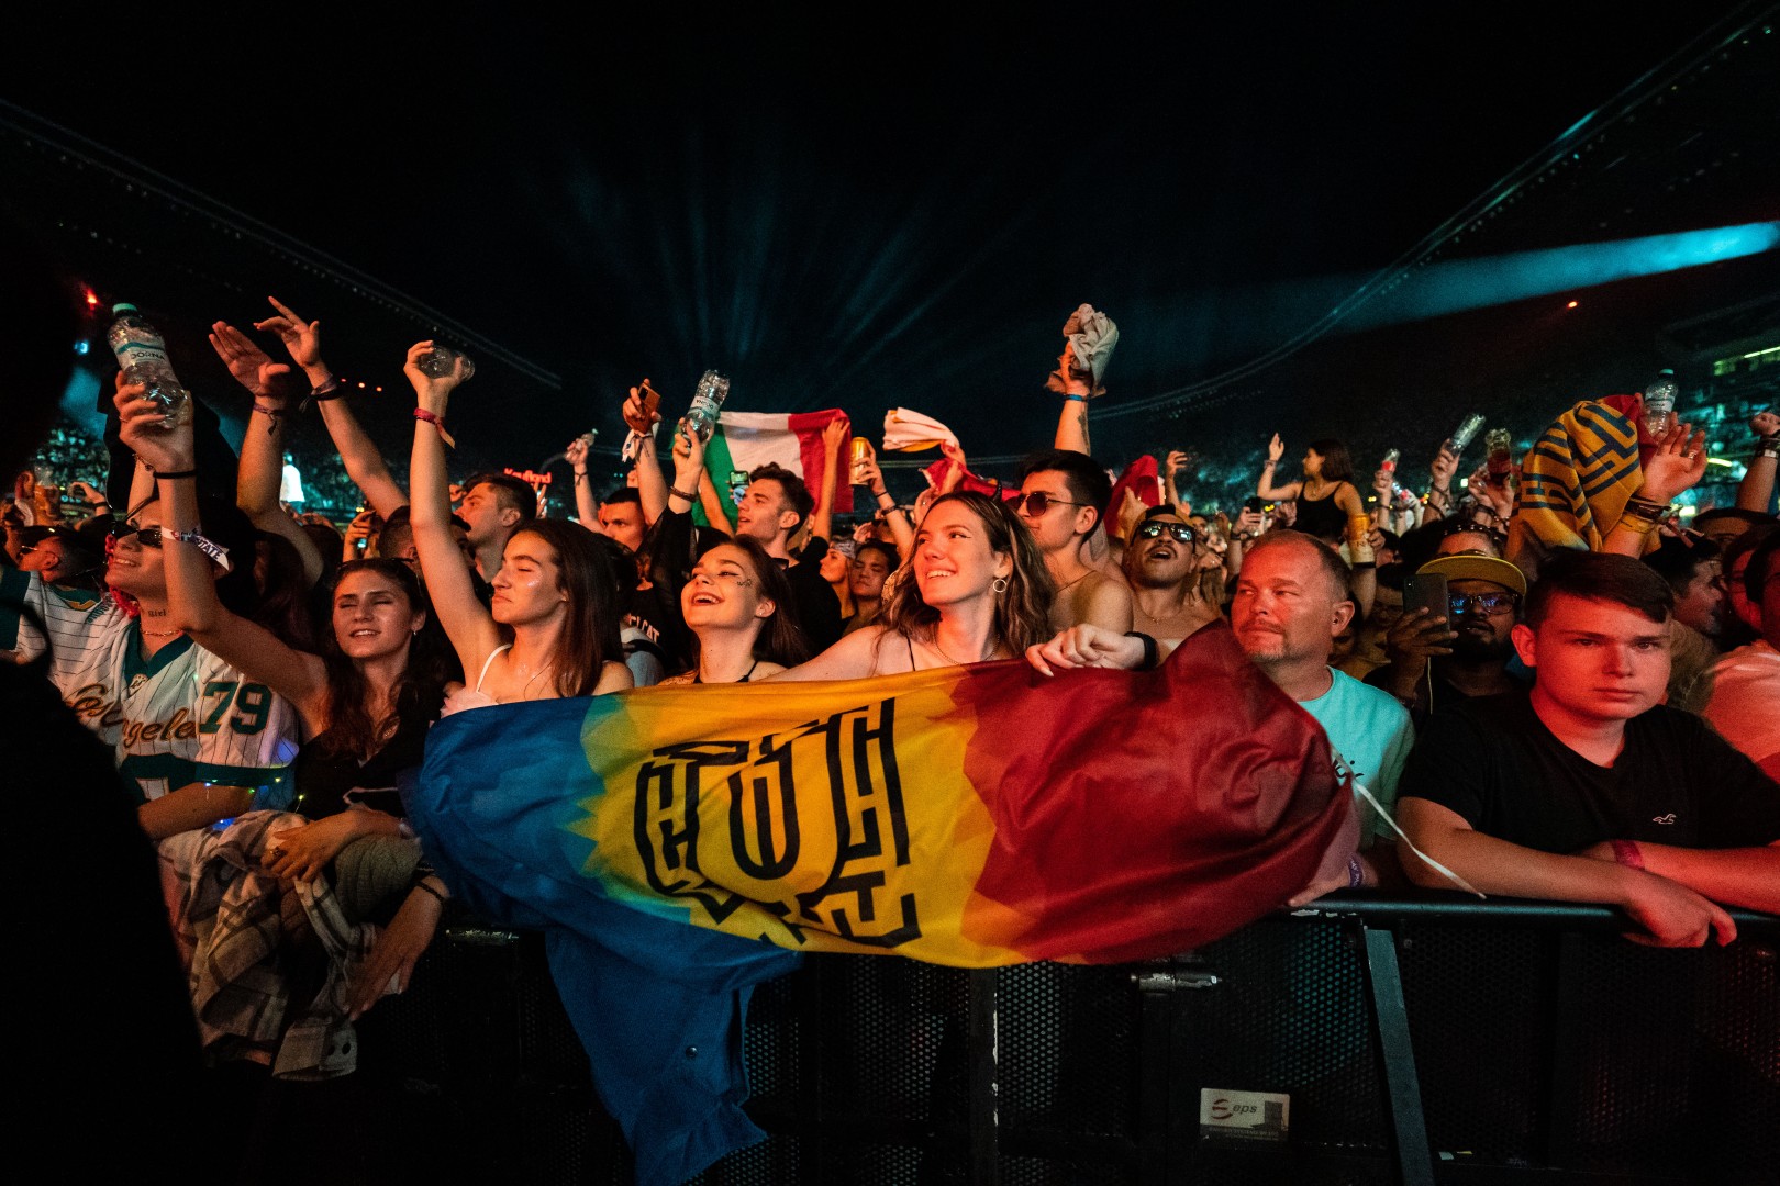
[[[461,359],[429,365],[434,343],[406,357],[404,489],[317,322],[272,301],[253,331],[210,336],[253,397],[233,500],[198,493],[203,420],[169,427],[119,375],[126,503],[94,473],[69,487],[89,514],[57,521],[25,468],[0,571],[0,649],[105,743],[158,845],[212,1062],[347,1070],[340,1022],[409,982],[450,887],[397,788],[443,715],[997,660],[1070,679],[1225,626],[1363,798],[1360,850],[1298,902],[1424,885],[1611,903],[1661,946],[1730,942],[1725,907],[1780,912],[1773,413],[1752,423],[1737,505],[1686,526],[1670,510],[1705,473],[1702,439],[1652,429],[1638,397],[1552,409],[1524,461],[1465,480],[1461,448],[1429,441],[1408,491],[1339,439],[1276,436],[1255,498],[1207,514],[1177,489],[1180,453],[1125,477],[1095,455],[1116,331],[1084,306],[1018,485],[972,473],[945,434],[904,509],[837,414],[821,466],[762,464],[732,494],[643,381],[625,485],[593,489],[591,441],[568,445],[570,519],[541,517],[516,477],[450,471],[450,409],[475,388]],[[351,523],[279,498],[304,414],[363,494]],[[837,509],[847,482],[870,514]],[[242,934],[308,958],[210,958]]]

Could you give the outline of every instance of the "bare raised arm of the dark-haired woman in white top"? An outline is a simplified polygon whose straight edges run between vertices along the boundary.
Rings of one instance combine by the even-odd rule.
[[[408,365],[402,373],[415,386],[415,452],[408,469],[413,503],[409,523],[415,530],[415,551],[420,557],[420,574],[427,583],[427,597],[440,626],[457,651],[465,672],[481,669],[482,661],[500,645],[495,619],[475,597],[470,565],[457,551],[450,533],[450,482],[445,477],[445,409],[452,389],[463,382],[463,363],[452,373],[433,379],[420,370],[420,359],[433,349],[431,341],[408,347]]]

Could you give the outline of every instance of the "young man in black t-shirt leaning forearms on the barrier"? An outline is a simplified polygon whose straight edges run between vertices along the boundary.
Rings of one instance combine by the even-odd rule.
[[[1780,912],[1780,786],[1659,704],[1671,606],[1627,557],[1550,562],[1513,633],[1533,690],[1429,718],[1397,795],[1410,839],[1485,893],[1620,905],[1659,946],[1730,942],[1716,903]]]

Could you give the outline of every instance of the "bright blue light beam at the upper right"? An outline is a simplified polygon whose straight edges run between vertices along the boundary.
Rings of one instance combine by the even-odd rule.
[[[1419,322],[1639,276],[1679,272],[1775,247],[1780,247],[1780,222],[1746,222],[1483,260],[1449,260],[1408,274],[1394,292],[1355,309],[1342,331]]]

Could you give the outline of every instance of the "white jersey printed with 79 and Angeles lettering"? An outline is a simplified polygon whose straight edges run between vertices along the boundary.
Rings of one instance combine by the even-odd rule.
[[[32,622],[32,613],[44,629]],[[189,782],[244,786],[256,809],[294,798],[297,713],[187,637],[142,658],[141,626],[109,597],[0,576],[0,651],[48,653],[50,679],[82,724],[116,752],[142,802]]]

